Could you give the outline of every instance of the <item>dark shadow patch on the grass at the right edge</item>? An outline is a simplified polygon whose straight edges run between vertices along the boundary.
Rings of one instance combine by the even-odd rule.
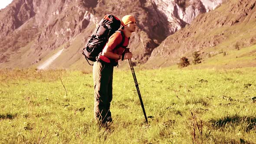
[[[234,127],[241,126],[241,129],[246,132],[251,131],[253,129],[256,130],[256,116],[240,116],[240,115],[232,115],[226,116],[220,119],[211,119],[210,123],[213,128],[224,129],[226,127]]]

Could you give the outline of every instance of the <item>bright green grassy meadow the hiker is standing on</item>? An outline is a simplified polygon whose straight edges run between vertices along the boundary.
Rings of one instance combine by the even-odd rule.
[[[115,68],[113,123],[98,128],[92,73],[0,70],[0,143],[255,144],[256,68],[135,73],[149,123],[131,71]]]

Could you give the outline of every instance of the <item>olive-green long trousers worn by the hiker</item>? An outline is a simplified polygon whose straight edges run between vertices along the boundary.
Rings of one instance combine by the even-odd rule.
[[[94,118],[100,123],[111,122],[113,66],[96,61],[93,65]]]

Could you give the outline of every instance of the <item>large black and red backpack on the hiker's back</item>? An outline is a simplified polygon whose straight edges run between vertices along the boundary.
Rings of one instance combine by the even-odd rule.
[[[83,48],[82,54],[85,56],[85,59],[89,63],[88,59],[92,62],[97,60],[97,57],[105,44],[108,41],[108,38],[115,33],[121,26],[121,21],[113,15],[105,15],[104,18],[98,23],[98,27],[95,29],[92,36],[89,36],[87,44]],[[120,32],[120,31],[118,31]],[[120,32],[122,36],[124,35]],[[124,39],[122,40],[123,43]],[[121,43],[121,45],[122,45]],[[92,65],[89,63],[89,65]]]

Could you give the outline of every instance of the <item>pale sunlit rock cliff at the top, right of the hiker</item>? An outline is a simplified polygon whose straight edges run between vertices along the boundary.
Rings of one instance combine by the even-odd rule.
[[[153,8],[167,29],[165,35],[175,33],[177,30],[190,24],[200,13],[214,10],[222,3],[222,0],[151,0],[146,7]]]

